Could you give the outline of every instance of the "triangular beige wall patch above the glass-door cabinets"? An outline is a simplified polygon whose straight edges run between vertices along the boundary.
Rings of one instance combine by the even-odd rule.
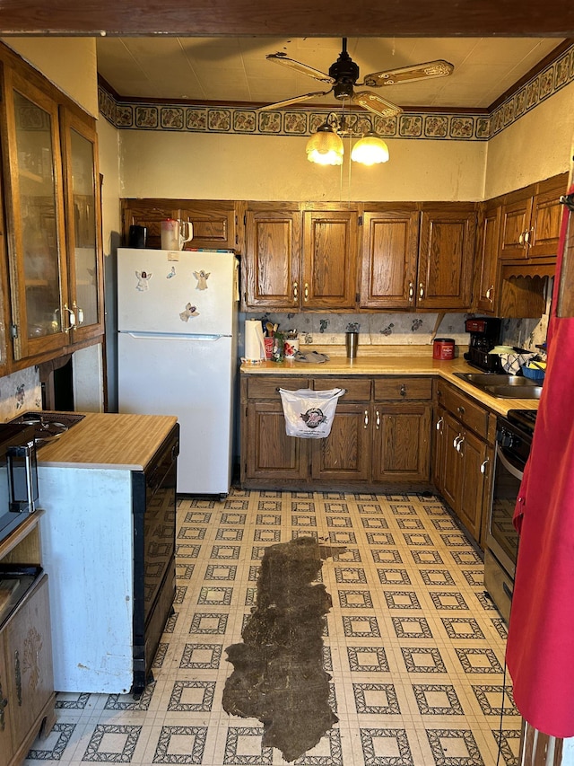
[[[98,116],[98,70],[94,38],[5,37],[1,40],[31,66]]]

